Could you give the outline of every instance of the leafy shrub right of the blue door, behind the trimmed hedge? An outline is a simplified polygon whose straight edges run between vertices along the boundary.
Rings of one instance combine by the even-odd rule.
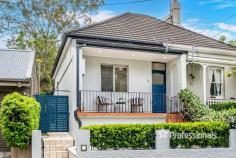
[[[215,111],[204,105],[200,98],[189,89],[178,94],[184,105],[185,118],[192,122],[222,121],[235,126],[234,113],[231,111]]]

